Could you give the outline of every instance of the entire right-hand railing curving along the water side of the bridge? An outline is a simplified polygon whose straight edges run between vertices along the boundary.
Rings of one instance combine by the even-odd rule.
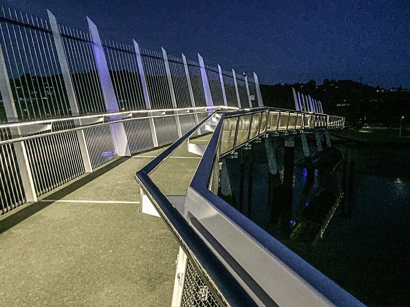
[[[238,297],[232,295],[234,289],[235,293],[249,297],[259,306],[363,306],[216,195],[220,156],[235,153],[237,148],[265,134],[339,128],[343,121],[341,117],[267,107],[221,112],[189,186],[185,207],[179,209],[183,216],[150,180],[149,173],[181,146],[189,138],[189,134],[136,173],[143,193],[174,231],[183,252],[193,262],[195,269],[199,270],[209,291],[219,298],[224,296],[224,291],[228,291],[228,295],[224,296],[226,299],[217,299],[219,305],[250,305],[249,302],[238,301]],[[171,215],[168,216],[167,212]],[[181,225],[177,225],[178,223]],[[187,242],[184,237],[188,241],[195,238],[195,242]],[[195,254],[193,250],[198,246],[190,244],[199,244],[203,250],[200,254]],[[205,254],[207,256],[204,257]],[[208,256],[215,261],[215,267],[204,259]],[[232,277],[229,280],[223,279],[220,274]],[[235,283],[232,283],[232,278]],[[181,295],[180,292],[174,293]],[[228,297],[233,300],[230,301]]]

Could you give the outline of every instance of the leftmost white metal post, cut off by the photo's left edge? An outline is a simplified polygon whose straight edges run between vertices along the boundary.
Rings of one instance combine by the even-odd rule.
[[[3,50],[0,46],[0,93],[2,94],[3,104],[6,111],[8,122],[18,122],[16,107],[14,105],[13,93],[11,92],[9,75],[7,73],[6,62],[4,60]],[[12,137],[18,136],[19,128],[10,129]],[[33,176],[27,158],[26,146],[24,142],[14,143],[14,152],[22,178],[24,193],[27,202],[36,202],[37,194],[34,187]]]

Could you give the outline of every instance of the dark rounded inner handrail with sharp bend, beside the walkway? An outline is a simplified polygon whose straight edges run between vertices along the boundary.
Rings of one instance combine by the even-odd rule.
[[[167,157],[180,147],[195,131],[208,121],[216,111],[193,127],[188,133],[174,142],[156,158],[135,173],[135,179],[144,190],[159,215],[171,229],[179,246],[202,277],[218,303],[222,306],[256,306],[238,281],[229,273],[199,235],[192,229],[167,196],[155,185],[149,173],[157,168]],[[223,117],[223,114],[222,114]]]

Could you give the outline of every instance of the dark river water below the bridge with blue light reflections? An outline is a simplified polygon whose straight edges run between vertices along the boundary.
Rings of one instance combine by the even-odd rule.
[[[410,306],[410,148],[336,146],[332,155],[344,156],[336,169],[337,161],[295,166],[286,214],[275,212],[283,170],[275,183],[255,164],[249,217],[366,305]]]

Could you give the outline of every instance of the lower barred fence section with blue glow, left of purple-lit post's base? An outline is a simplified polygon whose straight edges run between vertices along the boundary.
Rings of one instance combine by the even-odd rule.
[[[105,119],[106,121],[106,119]],[[90,126],[84,130],[92,168],[118,157],[111,125]]]

